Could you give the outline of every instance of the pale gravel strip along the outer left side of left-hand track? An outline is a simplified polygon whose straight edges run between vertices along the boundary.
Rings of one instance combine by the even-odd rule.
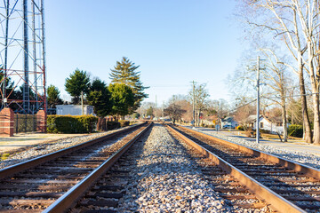
[[[11,154],[7,159],[0,162],[0,169],[4,169],[5,167],[11,166],[19,162],[28,161],[30,159],[36,158],[44,154],[50,154],[60,149],[68,148],[70,146],[76,146],[88,140],[100,138],[115,131],[116,130],[109,130],[105,132],[93,133],[92,135],[87,136],[62,138],[51,143],[36,145],[35,147],[29,148],[28,150],[16,154]]]

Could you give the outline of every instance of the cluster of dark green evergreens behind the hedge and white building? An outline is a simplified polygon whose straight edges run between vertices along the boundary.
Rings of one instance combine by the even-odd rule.
[[[143,99],[148,98],[144,90],[148,89],[140,82],[140,71],[131,60],[123,58],[116,61],[116,66],[111,69],[107,84],[100,78],[90,78],[84,71],[76,69],[68,76],[65,90],[72,97],[71,103],[78,105],[83,99],[84,104],[94,106],[94,113],[99,117],[114,115],[116,119],[126,114],[132,114]],[[48,107],[54,108],[63,101],[60,91],[54,85],[47,90]]]

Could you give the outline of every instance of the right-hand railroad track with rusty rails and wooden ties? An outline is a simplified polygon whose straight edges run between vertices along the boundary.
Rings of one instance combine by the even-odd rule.
[[[234,185],[245,186],[245,189],[230,188],[228,185],[217,187],[215,190],[228,200],[236,202],[248,198],[259,199],[258,202],[252,202],[257,203],[256,208],[268,205],[270,209],[279,212],[320,212],[320,170],[196,130],[180,126],[169,129],[220,165],[220,169],[228,175],[228,181],[236,180]],[[220,170],[218,173],[211,169],[206,172],[217,176]],[[230,195],[235,193],[236,195]]]

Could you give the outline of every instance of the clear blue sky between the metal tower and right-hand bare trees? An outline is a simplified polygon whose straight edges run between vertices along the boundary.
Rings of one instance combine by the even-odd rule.
[[[47,85],[59,87],[76,67],[110,82],[128,57],[157,103],[207,83],[211,99],[228,99],[225,80],[243,43],[233,0],[45,1]]]

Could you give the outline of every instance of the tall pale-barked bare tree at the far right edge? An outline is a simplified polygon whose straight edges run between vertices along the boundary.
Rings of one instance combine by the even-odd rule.
[[[319,32],[319,4],[315,0],[247,0],[244,5],[253,9],[252,12],[260,14],[259,19],[247,20],[254,28],[268,29],[279,37],[296,66],[285,64],[299,76],[300,96],[305,126],[305,138],[312,142],[312,133],[308,118],[306,89],[304,83],[304,70],[308,73],[313,92],[314,110],[314,143],[320,144],[319,121],[319,87],[318,87],[318,39]],[[307,55],[305,54],[307,52]]]

